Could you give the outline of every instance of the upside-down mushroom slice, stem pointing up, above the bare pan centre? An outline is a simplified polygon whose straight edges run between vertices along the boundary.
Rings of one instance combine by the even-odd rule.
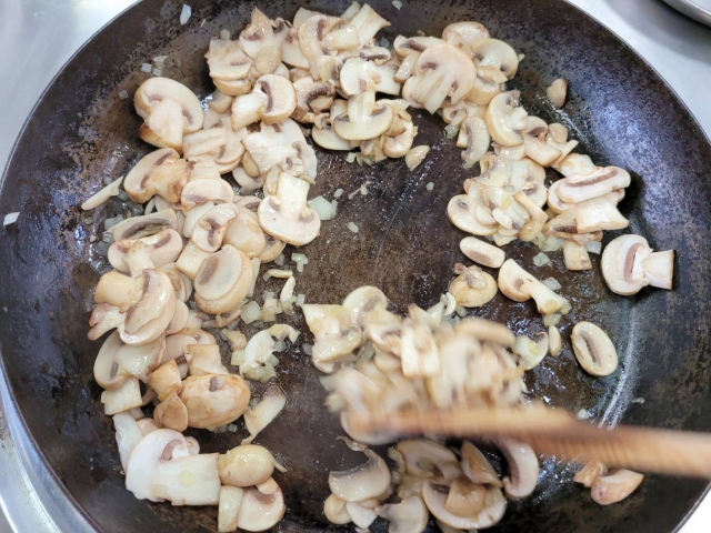
[[[362,141],[384,133],[392,117],[390,105],[375,103],[374,91],[363,91],[348,99],[348,112],[336,117],[332,127],[341,139]]]

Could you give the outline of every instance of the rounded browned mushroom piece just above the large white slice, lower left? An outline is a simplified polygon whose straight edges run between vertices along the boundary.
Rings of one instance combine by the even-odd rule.
[[[249,385],[239,375],[191,375],[180,400],[188,408],[190,428],[218,428],[239,419],[249,405]]]

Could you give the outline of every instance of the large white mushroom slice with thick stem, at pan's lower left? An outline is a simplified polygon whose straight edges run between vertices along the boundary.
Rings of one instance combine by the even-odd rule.
[[[138,443],[126,472],[126,487],[139,500],[173,505],[217,505],[220,477],[217,453],[190,455],[186,438],[153,431]]]

